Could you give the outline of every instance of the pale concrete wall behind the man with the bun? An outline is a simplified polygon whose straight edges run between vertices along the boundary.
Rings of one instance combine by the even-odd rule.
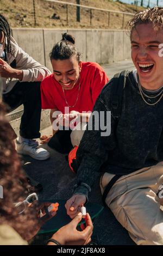
[[[12,29],[12,35],[24,51],[52,71],[49,52],[61,34],[74,35],[83,61],[106,64],[130,58],[130,40],[126,31],[82,29]]]

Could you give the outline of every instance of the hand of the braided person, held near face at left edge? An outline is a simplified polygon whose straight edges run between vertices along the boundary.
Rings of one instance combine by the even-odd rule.
[[[0,77],[17,78],[19,80],[22,80],[23,71],[12,69],[7,62],[0,58]]]

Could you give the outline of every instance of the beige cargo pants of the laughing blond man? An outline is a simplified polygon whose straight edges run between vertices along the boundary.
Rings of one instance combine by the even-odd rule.
[[[104,173],[101,177],[102,193],[113,176]],[[163,201],[158,197],[162,184],[163,162],[160,162],[122,176],[106,197],[105,203],[137,245],[163,245]]]

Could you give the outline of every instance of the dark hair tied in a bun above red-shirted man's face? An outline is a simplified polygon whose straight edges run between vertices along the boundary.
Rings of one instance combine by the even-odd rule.
[[[81,59],[81,53],[78,52],[75,46],[75,39],[72,35],[64,33],[60,42],[53,46],[49,57],[52,59],[69,59],[71,56],[76,56],[78,62]]]

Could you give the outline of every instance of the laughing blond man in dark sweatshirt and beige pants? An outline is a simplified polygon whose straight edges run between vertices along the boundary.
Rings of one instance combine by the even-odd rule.
[[[136,13],[128,26],[136,69],[116,75],[99,95],[93,111],[111,111],[111,132],[85,131],[66,209],[76,216],[101,171],[103,202],[131,239],[163,245],[163,8]]]

